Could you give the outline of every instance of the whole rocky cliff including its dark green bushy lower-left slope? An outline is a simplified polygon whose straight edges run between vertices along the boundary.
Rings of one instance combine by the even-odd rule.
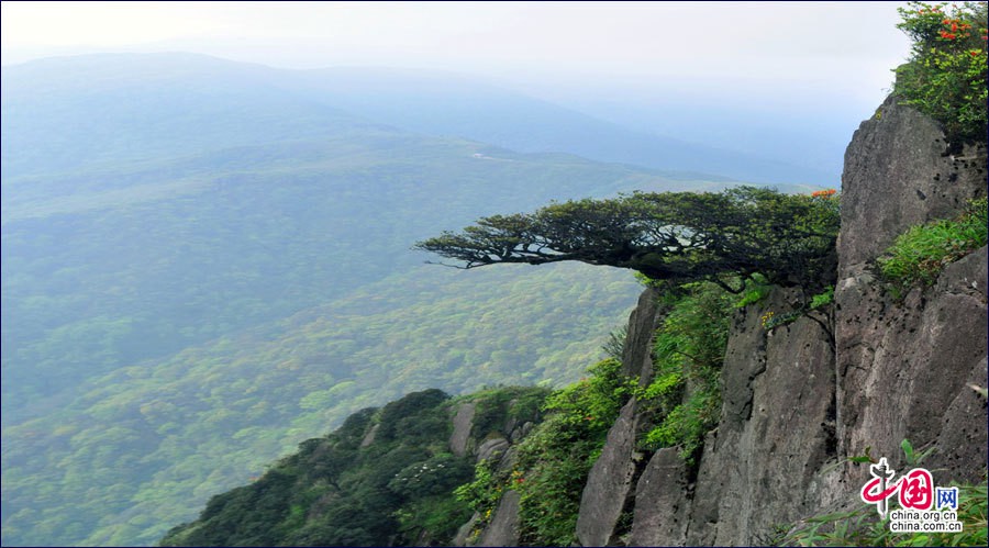
[[[985,145],[948,150],[937,124],[887,101],[845,155],[836,265],[814,272],[833,303],[776,326],[769,312],[807,303],[799,288],[698,309],[701,325],[721,326],[699,332],[722,345],[707,347],[720,385],[682,369],[682,393],[665,398],[716,392],[689,438],[700,449],[646,448],[660,411],[674,413],[642,396],[673,378],[657,333],[684,321],[646,289],[621,359],[589,378],[552,394],[426,391],[366,410],[163,544],[769,545],[860,504],[868,467],[848,459],[871,452],[903,470],[903,439],[933,450],[924,466],[938,485],[982,480],[987,403],[969,385],[987,385],[986,247],[896,298],[875,272],[909,227],[986,195]]]

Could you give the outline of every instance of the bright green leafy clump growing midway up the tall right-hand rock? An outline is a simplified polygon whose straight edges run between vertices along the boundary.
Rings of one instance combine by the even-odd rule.
[[[989,231],[987,200],[969,202],[954,220],[912,226],[877,260],[896,298],[915,284],[931,286],[945,266],[986,245]]]

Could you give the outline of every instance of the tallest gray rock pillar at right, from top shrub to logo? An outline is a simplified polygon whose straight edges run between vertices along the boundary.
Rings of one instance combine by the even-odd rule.
[[[925,466],[946,468],[935,474],[946,483],[978,480],[986,463],[985,400],[966,385],[986,379],[986,249],[899,303],[870,272],[907,228],[952,217],[986,194],[985,145],[944,153],[937,126],[892,101],[855,133],[842,178],[835,335],[842,454],[871,446],[893,462],[903,438],[936,444]],[[849,483],[863,479],[849,473]]]

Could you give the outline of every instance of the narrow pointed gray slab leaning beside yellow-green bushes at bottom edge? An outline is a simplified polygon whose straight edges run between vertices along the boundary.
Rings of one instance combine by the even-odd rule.
[[[635,451],[637,426],[636,403],[632,400],[608,432],[608,441],[580,496],[577,538],[582,546],[612,546],[616,541],[615,526],[629,497],[635,494],[637,461],[642,459]]]

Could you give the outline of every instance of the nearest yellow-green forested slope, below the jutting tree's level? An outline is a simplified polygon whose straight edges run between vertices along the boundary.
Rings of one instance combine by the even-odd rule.
[[[70,410],[4,426],[3,503],[15,510],[3,538],[152,545],[359,409],[429,387],[573,382],[641,291],[618,270],[578,267],[422,267],[311,315],[97,377]],[[38,502],[38,485],[51,500]],[[84,527],[96,523],[105,526]]]

